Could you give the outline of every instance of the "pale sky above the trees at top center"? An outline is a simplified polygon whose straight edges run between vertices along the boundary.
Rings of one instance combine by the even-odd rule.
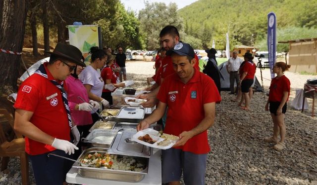
[[[165,4],[169,4],[170,2],[175,2],[177,4],[178,9],[183,8],[197,0],[121,0],[124,4],[126,10],[130,8],[130,10],[139,13],[139,10],[145,8],[144,1],[148,2],[164,2]]]

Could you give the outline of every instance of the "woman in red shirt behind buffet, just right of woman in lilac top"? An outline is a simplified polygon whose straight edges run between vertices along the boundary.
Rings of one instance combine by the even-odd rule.
[[[105,84],[113,84],[115,88],[119,88],[119,87],[125,87],[125,84],[123,82],[121,83],[117,83],[117,76],[114,74],[114,72],[111,70],[111,65],[114,62],[114,57],[107,53],[107,62],[106,62],[106,67],[102,70],[101,72],[101,77],[103,78],[103,80],[105,81]],[[115,88],[113,89],[103,89],[103,94],[102,94],[102,98],[104,98],[106,101],[109,102],[110,105],[112,105],[112,96],[111,96],[111,92],[113,92],[115,90]]]

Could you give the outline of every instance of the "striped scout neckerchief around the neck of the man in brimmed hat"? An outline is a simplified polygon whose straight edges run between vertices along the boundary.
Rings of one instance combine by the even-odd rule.
[[[41,76],[49,79],[48,74],[46,73],[46,70],[45,70],[43,64],[34,73],[40,74]],[[72,128],[71,118],[70,118],[70,110],[69,110],[68,100],[67,100],[67,93],[66,93],[65,89],[63,88],[64,81],[62,81],[60,84],[58,84],[57,81],[55,81],[55,80],[50,80],[50,81],[61,91],[62,100],[63,100],[64,107],[65,107],[66,112],[67,112],[68,125],[70,126],[70,128]]]

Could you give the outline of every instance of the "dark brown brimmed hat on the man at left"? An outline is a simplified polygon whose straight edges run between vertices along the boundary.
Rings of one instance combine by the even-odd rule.
[[[51,51],[44,51],[46,53],[50,53],[51,55],[55,55],[61,58],[64,58],[66,60],[69,60],[70,62],[73,62],[79,66],[86,67],[85,63],[81,62],[82,60],[82,53],[81,51],[70,44],[64,44],[64,43],[57,43],[55,49],[53,52]]]

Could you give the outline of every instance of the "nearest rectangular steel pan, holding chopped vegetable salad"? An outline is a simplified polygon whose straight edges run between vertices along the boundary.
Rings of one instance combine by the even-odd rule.
[[[82,159],[86,154],[94,154],[95,152],[107,153],[107,149],[106,148],[86,149],[78,157],[78,160]],[[122,156],[122,155],[118,155],[118,156]],[[73,168],[78,168],[78,174],[85,178],[137,183],[142,181],[145,175],[148,173],[149,159],[143,158],[143,157],[133,157],[133,158],[145,164],[146,168],[140,172],[134,172],[134,171],[107,169],[106,167],[101,167],[101,168],[84,167],[84,166],[81,166],[79,163],[74,163]]]

